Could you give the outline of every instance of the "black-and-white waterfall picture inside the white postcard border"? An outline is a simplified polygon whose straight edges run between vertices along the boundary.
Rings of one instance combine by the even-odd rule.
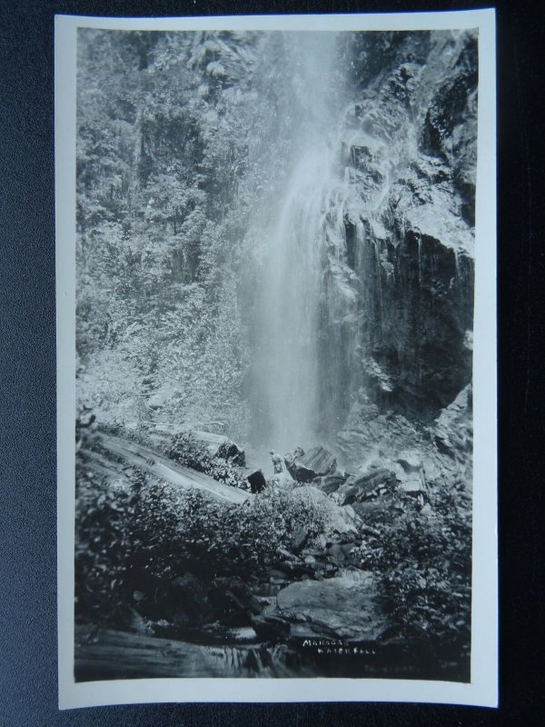
[[[494,132],[422,27],[74,28],[75,685],[475,682]]]

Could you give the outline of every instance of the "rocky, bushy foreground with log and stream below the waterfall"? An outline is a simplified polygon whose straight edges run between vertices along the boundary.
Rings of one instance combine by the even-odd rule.
[[[228,649],[237,657],[223,675],[281,676],[290,669],[293,676],[380,675],[391,669],[399,676],[465,679],[469,583],[461,574],[469,573],[470,563],[461,550],[471,551],[471,543],[463,543],[444,512],[471,509],[468,481],[460,478],[471,443],[470,404],[465,391],[434,429],[415,439],[399,415],[366,422],[362,402],[359,428],[339,437],[345,449],[367,442],[359,468],[340,467],[319,446],[286,454],[282,473],[272,479],[246,468],[243,451],[222,435],[171,436],[149,427],[128,438],[92,424],[78,451],[87,478],[76,554],[80,678],[98,678],[104,659],[118,676],[165,669],[205,676],[222,672],[218,653]],[[390,457],[372,447],[379,426]],[[410,442],[418,446],[399,449]],[[93,488],[102,494],[94,501],[91,532]],[[189,509],[187,493],[197,493]],[[112,513],[114,543],[130,540],[117,550],[112,533],[103,532]],[[99,553],[94,541],[106,536],[110,542]],[[85,539],[93,541],[86,552]],[[104,591],[100,598],[87,593],[93,579]],[[113,607],[114,595],[123,608]],[[192,644],[189,671],[170,657],[170,667],[156,666],[165,638],[174,652]],[[134,639],[132,665],[120,645],[127,639]],[[274,652],[274,664],[263,661],[263,650],[269,657]]]

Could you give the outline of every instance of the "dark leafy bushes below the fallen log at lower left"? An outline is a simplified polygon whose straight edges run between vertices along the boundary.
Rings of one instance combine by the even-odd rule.
[[[76,614],[122,624],[138,609],[135,593],[154,593],[190,571],[200,579],[263,576],[294,533],[322,533],[324,513],[290,491],[248,503],[222,503],[138,474],[111,486],[78,468]]]

